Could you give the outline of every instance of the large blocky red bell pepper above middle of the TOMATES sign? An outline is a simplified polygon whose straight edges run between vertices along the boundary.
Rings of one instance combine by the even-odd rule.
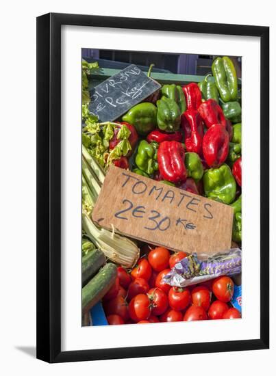
[[[181,183],[186,180],[184,146],[177,141],[164,141],[158,148],[158,166],[164,180]]]

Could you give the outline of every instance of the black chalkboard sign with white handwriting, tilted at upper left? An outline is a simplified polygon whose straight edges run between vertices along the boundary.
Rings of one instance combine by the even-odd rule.
[[[101,122],[112,122],[161,85],[131,64],[90,90],[89,110]]]

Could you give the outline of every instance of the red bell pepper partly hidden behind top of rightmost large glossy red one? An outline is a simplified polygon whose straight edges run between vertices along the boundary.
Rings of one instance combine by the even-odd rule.
[[[223,113],[223,109],[214,99],[205,100],[199,106],[200,116],[207,128],[210,128],[213,124],[221,124],[226,127],[226,119]]]

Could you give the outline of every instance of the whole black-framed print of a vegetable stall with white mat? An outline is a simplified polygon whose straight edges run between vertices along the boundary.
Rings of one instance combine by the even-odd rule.
[[[268,27],[37,18],[39,359],[268,349],[268,83]]]

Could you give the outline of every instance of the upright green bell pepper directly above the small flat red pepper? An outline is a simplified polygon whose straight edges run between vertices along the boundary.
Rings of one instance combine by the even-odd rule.
[[[179,130],[181,113],[175,100],[162,96],[157,101],[158,128],[166,132],[176,132]]]

